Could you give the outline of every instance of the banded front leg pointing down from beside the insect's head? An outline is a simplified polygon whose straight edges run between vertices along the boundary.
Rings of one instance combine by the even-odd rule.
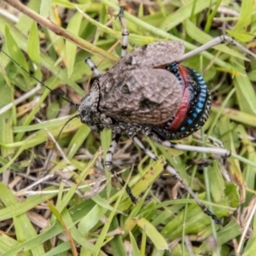
[[[117,172],[115,172],[113,170],[113,165],[112,165],[113,153],[114,153],[114,150],[115,150],[117,144],[119,143],[120,136],[121,136],[120,131],[115,132],[113,134],[112,142],[111,142],[111,144],[108,148],[108,152],[106,154],[105,166],[108,168],[108,171],[112,173],[113,177],[115,177],[116,180],[121,184],[121,186],[124,187],[125,186],[125,181],[121,177],[119,177]],[[136,204],[137,203],[137,198],[134,195],[132,195],[131,188],[128,186],[128,184],[126,185],[125,191],[126,191],[127,195],[131,198],[131,201],[134,204]]]

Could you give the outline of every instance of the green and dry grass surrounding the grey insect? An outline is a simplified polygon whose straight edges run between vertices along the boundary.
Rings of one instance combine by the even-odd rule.
[[[255,52],[253,0],[225,6],[237,15],[221,15],[219,3],[127,3],[128,50],[165,39],[183,40],[189,51],[230,32]],[[5,12],[14,12],[7,7]],[[15,22],[0,16],[3,50],[49,88],[79,103],[91,73],[84,58],[91,56],[102,73],[119,60],[116,42],[121,27],[118,19],[108,15],[108,8],[115,12],[118,5],[108,0],[79,1],[87,17],[68,1],[42,6],[29,1],[27,7],[39,15],[31,19],[21,14]],[[38,26],[38,17],[55,32]],[[63,29],[56,30],[49,20]],[[60,149],[51,154],[52,137],[58,136],[76,108],[44,87],[15,105],[38,82],[3,53],[0,65],[0,111],[11,103],[9,110],[0,112],[2,255],[253,255],[256,61],[252,57],[236,47],[219,45],[183,62],[207,81],[212,113],[201,132],[178,143],[223,143],[232,152],[230,159],[214,160],[200,170],[186,161],[205,155],[164,148],[144,137],[143,143],[163,156],[154,163],[126,135],[122,137],[113,163],[141,197],[136,206],[124,189],[111,184],[107,170],[102,176],[111,131],[90,132],[73,119],[57,140]],[[161,173],[164,159],[223,219],[224,227],[212,223],[172,178]]]

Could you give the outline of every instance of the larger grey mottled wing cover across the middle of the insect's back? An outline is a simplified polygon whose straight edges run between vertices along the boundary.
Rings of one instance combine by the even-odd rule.
[[[100,93],[100,112],[135,124],[165,122],[177,113],[182,100],[182,88],[175,75],[157,68],[103,75]]]

